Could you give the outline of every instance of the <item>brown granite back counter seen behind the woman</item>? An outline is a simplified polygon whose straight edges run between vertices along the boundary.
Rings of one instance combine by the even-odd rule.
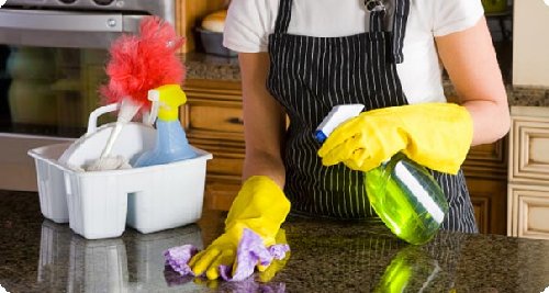
[[[213,79],[225,81],[240,81],[237,58],[216,57],[203,53],[183,55],[188,79]],[[518,87],[511,84],[509,74],[504,75],[507,88],[509,106],[549,106],[549,88]],[[447,97],[456,95],[450,81],[445,78],[444,87]]]

